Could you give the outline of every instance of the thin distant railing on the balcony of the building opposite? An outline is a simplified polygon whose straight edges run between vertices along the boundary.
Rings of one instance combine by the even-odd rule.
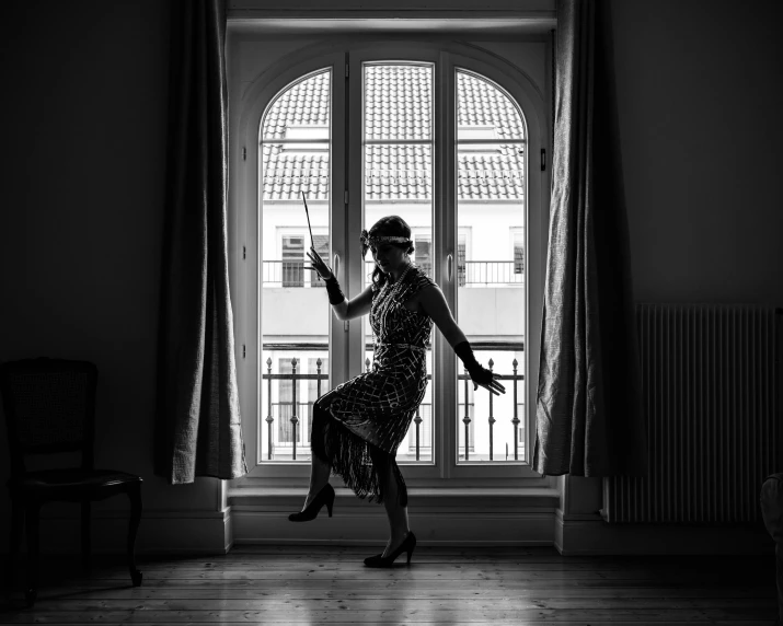
[[[303,260],[265,260],[262,268],[264,287],[323,287],[315,271],[304,269]],[[431,274],[431,264],[421,263],[425,274]],[[367,274],[372,273],[373,263],[365,262]],[[525,285],[525,271],[514,260],[467,260],[458,264],[457,279],[460,287],[469,285]]]

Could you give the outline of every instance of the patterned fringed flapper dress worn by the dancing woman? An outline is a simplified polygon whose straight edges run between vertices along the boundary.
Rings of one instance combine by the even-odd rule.
[[[313,416],[313,454],[332,465],[358,497],[382,501],[379,472],[390,462],[404,491],[394,462],[427,389],[427,344],[431,318],[405,309],[421,289],[434,286],[419,268],[410,265],[395,282],[373,287],[370,326],[373,361],[370,371],[329,392],[316,403],[325,410]],[[403,505],[406,498],[403,498]]]

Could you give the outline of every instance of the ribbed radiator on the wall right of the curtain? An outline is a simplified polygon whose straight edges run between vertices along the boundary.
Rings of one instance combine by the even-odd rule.
[[[648,475],[603,480],[608,522],[756,522],[780,465],[782,310],[637,304]]]

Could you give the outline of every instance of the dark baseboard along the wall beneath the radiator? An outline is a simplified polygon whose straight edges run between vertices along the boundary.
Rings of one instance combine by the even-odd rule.
[[[554,546],[563,556],[760,555],[774,543],[760,526],[608,524],[600,515],[555,512]]]

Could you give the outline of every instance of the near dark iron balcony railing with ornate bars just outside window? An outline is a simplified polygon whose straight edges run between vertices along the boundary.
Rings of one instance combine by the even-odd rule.
[[[291,371],[288,373],[278,373],[278,374],[273,374],[272,373],[272,358],[267,358],[266,360],[266,372],[262,374],[262,380],[266,381],[267,384],[267,417],[266,417],[266,424],[267,424],[267,459],[269,461],[273,460],[274,457],[274,438],[273,438],[273,432],[274,432],[274,425],[276,419],[287,419],[290,422],[289,425],[286,425],[285,427],[281,427],[283,430],[281,432],[285,433],[285,437],[283,440],[279,442],[281,447],[286,449],[286,452],[290,449],[290,454],[291,454],[291,460],[296,461],[297,460],[297,443],[299,445],[303,444],[302,437],[298,432],[300,427],[300,416],[307,416],[309,418],[310,415],[312,415],[310,407],[312,406],[312,403],[299,403],[297,402],[297,397],[300,396],[299,393],[299,382],[300,381],[316,381],[315,382],[315,397],[321,396],[321,390],[322,390],[322,381],[323,381],[323,386],[325,387],[329,383],[329,374],[326,372],[322,371],[322,366],[323,361],[321,359],[318,359],[315,361],[315,373],[299,373],[297,371],[297,368],[300,364],[300,361],[295,357],[291,359],[290,364],[291,364]],[[509,381],[511,384],[510,386],[513,387],[510,391],[513,391],[514,395],[514,417],[509,419],[509,424],[507,426],[510,426],[514,429],[514,460],[519,461],[519,444],[521,443],[522,445],[525,444],[525,425],[522,420],[519,419],[519,407],[522,406],[522,404],[519,403],[519,383],[525,381],[525,374],[519,373],[518,368],[519,368],[519,362],[515,358],[511,361],[511,373],[509,374],[499,374],[498,379],[500,381]],[[365,368],[367,371],[369,371],[371,366],[371,361],[369,358],[365,360]],[[494,366],[495,362],[493,359],[490,359],[487,362],[487,366],[490,370],[494,371]],[[428,380],[431,380],[431,374],[427,375]],[[463,416],[462,417],[462,424],[464,425],[464,437],[462,438],[462,448],[463,448],[463,454],[464,454],[464,460],[470,461],[470,453],[471,451],[474,450],[474,444],[473,440],[471,438],[471,424],[474,421],[474,417],[476,415],[476,408],[474,406],[474,403],[470,402],[470,395],[468,393],[469,385],[471,383],[471,378],[468,374],[468,371],[465,370],[464,373],[458,375],[459,381],[462,381],[464,384],[464,394],[463,394],[463,402],[460,403],[460,414]],[[290,382],[290,401],[288,402],[281,402],[281,403],[273,403],[272,402],[272,382],[273,381],[288,381]],[[507,390],[508,391],[508,390]],[[288,391],[287,391],[288,395]],[[488,401],[486,405],[487,409],[487,420],[486,424],[488,426],[488,438],[490,438],[490,461],[494,461],[494,455],[495,455],[495,449],[494,449],[494,433],[495,433],[495,424],[497,422],[497,419],[495,419],[495,414],[494,414],[494,394],[490,393],[488,395]],[[422,424],[425,421],[425,418],[422,417],[422,414],[424,413],[425,418],[429,419],[429,426],[430,426],[430,432],[431,432],[431,406],[429,404],[425,405],[422,404],[418,409],[416,410],[416,416],[413,419],[414,424],[414,441],[412,444],[412,448],[415,450],[416,454],[416,461],[419,460],[419,454],[422,451],[423,445],[423,428]],[[279,428],[280,426],[278,426]],[[506,449],[506,457],[508,457],[508,449]]]

